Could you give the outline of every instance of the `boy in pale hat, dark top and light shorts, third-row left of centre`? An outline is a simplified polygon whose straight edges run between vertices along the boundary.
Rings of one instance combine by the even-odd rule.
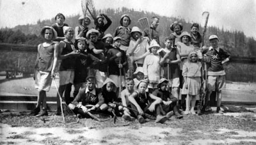
[[[88,52],[91,53],[93,56],[97,57],[104,63],[105,56],[104,56],[104,42],[98,40],[99,31],[96,29],[90,29],[87,34],[86,38],[89,40],[89,50]],[[106,72],[108,72],[108,65],[106,63],[102,64],[101,66],[97,65],[93,67],[90,75],[95,75],[97,81],[97,88],[102,88],[104,80],[106,80]]]

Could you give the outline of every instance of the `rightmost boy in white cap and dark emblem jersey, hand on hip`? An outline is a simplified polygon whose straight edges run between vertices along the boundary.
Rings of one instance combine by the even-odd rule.
[[[217,113],[223,114],[220,110],[221,105],[221,90],[225,87],[226,79],[225,79],[225,70],[223,68],[223,64],[227,63],[230,58],[230,54],[221,49],[218,45],[219,38],[216,35],[211,35],[209,37],[210,45],[208,52],[206,52],[206,56],[211,60],[208,68],[208,84],[207,84],[207,95],[205,96],[205,105],[202,111],[205,111],[205,108],[208,105],[209,97],[211,96],[212,91],[216,91],[217,96]]]

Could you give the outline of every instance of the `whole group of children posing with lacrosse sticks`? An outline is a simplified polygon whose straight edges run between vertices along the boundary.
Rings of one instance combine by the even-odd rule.
[[[159,17],[152,17],[150,27],[141,30],[136,26],[131,29],[131,18],[122,15],[113,35],[105,34],[112,23],[105,14],[95,17],[92,29],[88,28],[92,22],[88,16],[79,17],[75,29],[64,23],[62,13],[55,19],[56,24],[44,26],[40,33],[44,43],[38,45],[35,66],[38,100],[31,115],[47,116],[46,91],[59,72],[56,115],[61,115],[63,98],[79,118],[90,118],[87,112],[95,111],[115,112],[125,120],[138,119],[140,123],[147,121],[148,114],[156,117],[157,123],[172,116],[180,119],[182,114],[196,114],[203,69],[207,70],[207,92],[202,111],[207,110],[209,96],[216,91],[217,112],[223,113],[223,64],[229,61],[230,54],[219,47],[216,35],[209,37],[211,47],[202,49],[204,42],[198,24],[194,23],[188,33],[182,31],[182,24],[174,22],[170,25],[173,33],[166,36],[165,47],[161,48]],[[180,92],[184,112],[177,106]]]

